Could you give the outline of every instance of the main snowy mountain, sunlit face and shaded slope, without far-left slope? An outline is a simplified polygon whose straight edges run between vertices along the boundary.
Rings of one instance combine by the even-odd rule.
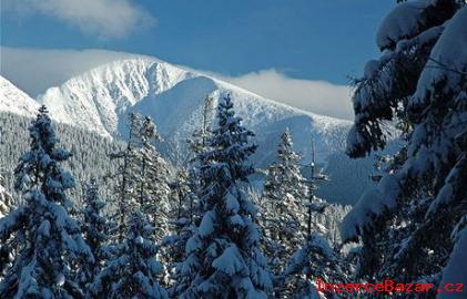
[[[49,107],[53,118],[111,137],[124,134],[128,112],[151,115],[166,142],[183,147],[199,126],[203,99],[211,95],[217,101],[227,93],[244,124],[257,133],[260,162],[272,157],[287,126],[297,151],[307,154],[315,140],[318,159],[344,146],[347,121],[293,109],[155,59],[101,65],[49,89],[38,101]]]

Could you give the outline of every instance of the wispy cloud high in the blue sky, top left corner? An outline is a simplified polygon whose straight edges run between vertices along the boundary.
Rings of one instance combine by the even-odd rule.
[[[129,0],[4,0],[4,8],[53,17],[101,39],[123,38],[155,22]]]

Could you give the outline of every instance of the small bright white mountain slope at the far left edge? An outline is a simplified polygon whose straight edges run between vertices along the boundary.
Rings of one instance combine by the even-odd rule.
[[[33,116],[38,109],[38,102],[0,75],[0,111]]]

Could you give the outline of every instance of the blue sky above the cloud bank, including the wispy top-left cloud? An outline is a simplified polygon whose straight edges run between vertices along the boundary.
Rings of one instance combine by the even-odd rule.
[[[148,54],[226,76],[347,84],[395,0],[2,0],[1,45]],[[99,2],[100,4],[95,4]],[[4,73],[4,71],[2,71]]]

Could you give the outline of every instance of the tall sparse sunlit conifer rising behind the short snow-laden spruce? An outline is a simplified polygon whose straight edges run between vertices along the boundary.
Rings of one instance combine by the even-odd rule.
[[[169,167],[154,143],[161,137],[150,117],[136,113],[129,115],[129,140],[124,150],[111,154],[119,159],[116,177],[116,215],[119,238],[123,238],[125,215],[140,208],[158,227],[154,238],[161,241],[169,230],[171,205],[169,203]]]

